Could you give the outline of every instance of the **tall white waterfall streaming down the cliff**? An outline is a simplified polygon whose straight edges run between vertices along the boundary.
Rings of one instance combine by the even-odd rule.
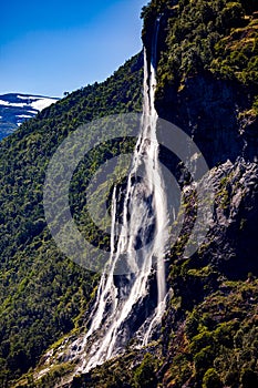
[[[168,239],[168,215],[158,161],[158,116],[154,105],[158,30],[159,18],[153,34],[151,63],[144,50],[142,129],[127,178],[122,225],[118,225],[116,214],[118,187],[113,191],[111,255],[101,278],[90,328],[82,344],[83,349],[89,349],[80,367],[84,372],[121,354],[143,326],[145,329],[140,345],[146,345],[153,328],[161,323],[165,308],[164,256]],[[124,275],[116,275],[116,268],[121,265],[125,269]],[[149,297],[153,277],[156,282],[155,303]],[[137,314],[143,310],[144,314]]]

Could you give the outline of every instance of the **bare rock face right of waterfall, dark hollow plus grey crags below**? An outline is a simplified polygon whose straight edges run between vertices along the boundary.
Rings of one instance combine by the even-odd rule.
[[[210,74],[157,101],[159,116],[190,135],[209,165],[216,201],[204,256],[233,278],[258,274],[258,121],[240,114],[247,110],[244,88]]]

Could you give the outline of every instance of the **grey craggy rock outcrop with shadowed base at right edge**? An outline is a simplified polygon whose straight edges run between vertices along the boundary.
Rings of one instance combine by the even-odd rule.
[[[204,257],[230,279],[258,275],[258,166],[238,159],[211,171],[216,190],[210,248]],[[208,258],[209,257],[209,258]]]

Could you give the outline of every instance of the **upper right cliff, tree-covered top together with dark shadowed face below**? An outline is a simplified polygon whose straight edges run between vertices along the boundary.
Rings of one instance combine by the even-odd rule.
[[[258,152],[257,4],[244,0],[152,1],[143,41],[161,17],[156,109],[189,134],[209,167]]]

